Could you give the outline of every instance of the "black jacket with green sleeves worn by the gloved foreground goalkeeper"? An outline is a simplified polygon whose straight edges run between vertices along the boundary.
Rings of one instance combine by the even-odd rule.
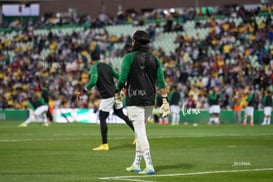
[[[149,106],[155,104],[155,89],[165,88],[164,73],[158,58],[144,51],[127,54],[122,62],[118,89],[127,81],[127,106]]]

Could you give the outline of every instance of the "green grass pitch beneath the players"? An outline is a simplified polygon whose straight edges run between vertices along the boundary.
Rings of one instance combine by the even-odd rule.
[[[272,182],[273,126],[149,123],[155,175],[127,172],[134,159],[133,133],[109,124],[109,151],[97,124],[0,122],[0,182]],[[144,161],[142,161],[144,168]]]

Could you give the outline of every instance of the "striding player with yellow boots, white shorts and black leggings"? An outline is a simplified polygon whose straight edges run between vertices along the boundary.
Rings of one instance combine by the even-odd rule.
[[[102,137],[102,144],[93,150],[109,150],[108,145],[108,126],[106,120],[109,116],[110,111],[114,106],[114,95],[116,92],[116,86],[114,82],[114,77],[119,78],[118,72],[106,63],[100,62],[100,52],[93,51],[91,53],[92,61],[95,61],[90,69],[90,80],[89,83],[82,89],[79,93],[79,97],[86,94],[93,86],[97,86],[100,95],[101,102],[99,106],[99,120],[100,120],[100,130]],[[119,99],[120,101],[121,99]],[[126,124],[134,131],[134,127],[129,118],[123,113],[122,102],[116,102],[114,107],[114,114],[123,119]]]

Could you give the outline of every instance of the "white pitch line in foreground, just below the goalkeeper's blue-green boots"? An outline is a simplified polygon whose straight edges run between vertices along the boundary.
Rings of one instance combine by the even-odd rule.
[[[239,170],[223,170],[223,171],[203,171],[193,173],[177,173],[177,174],[159,174],[159,175],[144,175],[144,176],[113,176],[113,177],[100,177],[100,180],[122,180],[122,181],[138,181],[138,182],[152,182],[147,180],[138,180],[135,178],[147,177],[168,177],[168,176],[191,176],[203,174],[219,174],[219,173],[238,173],[238,172],[254,172],[254,171],[273,171],[273,168],[260,168],[260,169],[239,169]]]

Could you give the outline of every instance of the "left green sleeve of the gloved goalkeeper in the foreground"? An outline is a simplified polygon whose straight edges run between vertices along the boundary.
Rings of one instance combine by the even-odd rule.
[[[120,72],[118,84],[117,84],[118,90],[121,90],[127,81],[128,74],[129,74],[130,68],[131,68],[131,64],[134,60],[134,55],[135,55],[134,52],[127,54],[122,60],[121,72]]]

